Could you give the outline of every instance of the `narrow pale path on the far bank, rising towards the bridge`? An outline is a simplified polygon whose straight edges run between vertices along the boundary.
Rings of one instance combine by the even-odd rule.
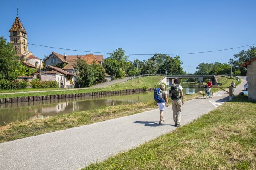
[[[102,87],[106,87],[108,85],[113,85],[113,84],[116,84],[116,83],[119,83],[119,82],[125,82],[129,78],[131,78],[131,77],[125,77],[123,79],[117,79],[117,80],[113,80],[111,82],[103,82],[103,83],[99,83],[97,85],[90,86],[88,88],[70,88],[70,89],[42,90],[42,91],[17,91],[17,92],[0,93],[0,94],[39,93],[39,92],[48,92],[48,91],[70,91],[70,90],[82,90],[82,89],[89,89],[89,88],[102,88]]]

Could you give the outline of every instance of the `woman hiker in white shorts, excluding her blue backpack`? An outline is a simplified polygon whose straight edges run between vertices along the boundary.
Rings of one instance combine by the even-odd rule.
[[[161,84],[160,85],[160,100],[162,101],[159,101],[159,100],[156,100],[156,103],[157,103],[157,106],[160,110],[160,116],[159,116],[159,124],[162,124],[164,122],[164,119],[163,119],[163,111],[164,111],[164,107],[168,107],[168,98],[167,98],[167,92],[165,91],[165,85],[164,84]],[[155,93],[155,92],[154,92]],[[155,94],[154,94],[155,96]]]

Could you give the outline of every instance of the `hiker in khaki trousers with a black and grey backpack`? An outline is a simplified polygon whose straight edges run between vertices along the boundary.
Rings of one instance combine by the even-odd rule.
[[[180,85],[180,79],[174,79],[174,83],[172,84],[169,95],[172,99],[172,113],[173,113],[173,121],[175,122],[175,126],[181,126],[181,105],[184,105],[183,91],[182,86]],[[181,99],[181,100],[180,100]]]

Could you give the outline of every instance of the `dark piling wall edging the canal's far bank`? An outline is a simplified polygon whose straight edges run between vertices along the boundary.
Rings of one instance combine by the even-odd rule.
[[[154,88],[148,88],[149,91],[154,90]],[[0,104],[4,103],[16,103],[16,102],[30,102],[30,101],[40,101],[40,100],[50,100],[50,99],[65,99],[65,98],[75,98],[84,96],[98,96],[107,94],[122,94],[129,92],[145,91],[143,88],[136,89],[125,89],[116,91],[98,91],[98,92],[87,92],[87,93],[73,93],[73,94],[52,94],[45,96],[28,96],[28,97],[12,97],[12,98],[1,98]]]

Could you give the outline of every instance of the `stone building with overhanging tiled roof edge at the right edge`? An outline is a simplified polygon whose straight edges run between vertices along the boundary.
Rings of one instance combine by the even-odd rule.
[[[248,100],[256,100],[256,56],[244,62],[241,67],[247,67]]]

